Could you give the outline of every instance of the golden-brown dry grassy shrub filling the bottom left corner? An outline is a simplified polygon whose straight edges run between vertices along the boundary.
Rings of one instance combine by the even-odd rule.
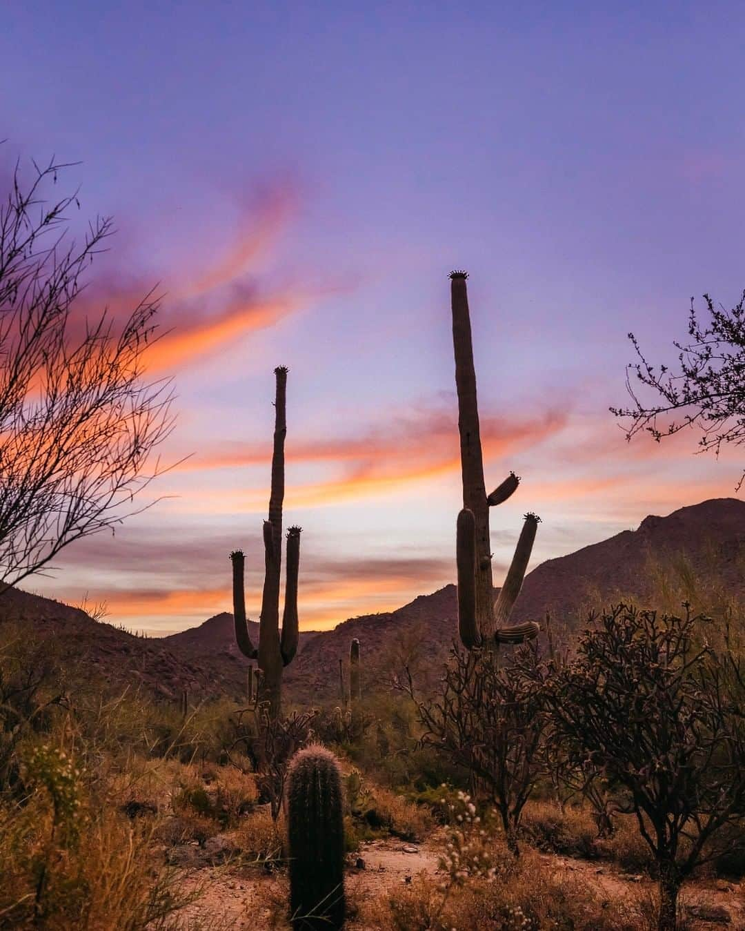
[[[38,744],[21,772],[23,803],[0,805],[0,927],[144,931],[189,900],[153,820],[102,803],[70,752]]]

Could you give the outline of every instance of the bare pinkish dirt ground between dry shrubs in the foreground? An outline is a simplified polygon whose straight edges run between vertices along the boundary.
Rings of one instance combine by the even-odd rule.
[[[358,855],[348,858],[347,893],[351,902],[362,903],[379,898],[405,885],[422,870],[433,875],[437,871],[442,838],[432,835],[425,843],[406,843],[393,839],[361,844]],[[364,869],[355,866],[357,857]],[[654,884],[642,876],[620,872],[616,867],[598,861],[541,855],[557,872],[578,877],[592,886],[612,908],[630,892],[648,890]],[[198,901],[181,911],[181,931],[286,931],[287,882],[284,873],[264,873],[256,868],[230,865],[196,870],[189,884],[200,884],[204,893]],[[690,931],[745,931],[745,884],[722,881],[698,882],[684,887],[682,905],[688,916]],[[694,911],[689,911],[692,908]],[[722,910],[730,921],[721,921]],[[697,916],[698,911],[698,916]],[[705,920],[715,918],[720,920]],[[348,924],[349,931],[366,931],[368,925],[359,919]]]

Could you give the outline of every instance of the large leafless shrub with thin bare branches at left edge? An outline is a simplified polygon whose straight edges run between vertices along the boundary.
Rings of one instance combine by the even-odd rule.
[[[77,197],[47,194],[67,167],[34,163],[25,183],[17,166],[0,204],[0,592],[131,513],[173,424],[169,384],[142,377],[153,295],[121,324],[81,309],[113,225],[97,218],[82,244],[67,237]]]

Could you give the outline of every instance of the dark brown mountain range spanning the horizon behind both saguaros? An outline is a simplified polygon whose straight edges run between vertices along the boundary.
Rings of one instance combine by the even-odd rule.
[[[549,611],[571,630],[592,607],[620,596],[644,603],[651,590],[650,565],[681,556],[694,572],[745,599],[745,502],[715,499],[668,517],[650,516],[636,531],[547,560],[525,578],[513,618],[541,623]],[[176,698],[181,689],[194,697],[244,694],[248,664],[235,645],[232,614],[144,640],[58,601],[13,590],[0,598],[0,621],[13,618],[54,636],[71,663],[113,684],[141,683],[166,698]],[[303,703],[336,698],[339,658],[346,674],[354,637],[361,641],[368,689],[383,685],[406,664],[437,676],[457,636],[456,618],[456,588],[448,585],[397,611],[354,617],[333,630],[305,631],[298,656],[286,668],[286,694]],[[258,642],[259,625],[253,622],[251,636]]]

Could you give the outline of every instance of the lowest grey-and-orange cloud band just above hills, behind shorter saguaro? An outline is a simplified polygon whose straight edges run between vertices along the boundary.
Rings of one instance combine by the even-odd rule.
[[[123,534],[124,535],[124,534]],[[260,532],[244,534],[246,604],[259,615],[263,560]],[[228,552],[232,535],[201,533],[198,537],[166,534],[152,527],[116,546],[81,541],[74,560],[111,578],[96,589],[118,621],[151,629],[171,629],[174,621],[199,624],[212,614],[232,610]],[[126,588],[115,581],[126,572]],[[300,555],[299,613],[301,627],[332,627],[353,614],[389,611],[416,594],[451,581],[452,559],[412,555],[372,558],[319,553],[303,545]],[[73,600],[79,595],[71,592]]]

